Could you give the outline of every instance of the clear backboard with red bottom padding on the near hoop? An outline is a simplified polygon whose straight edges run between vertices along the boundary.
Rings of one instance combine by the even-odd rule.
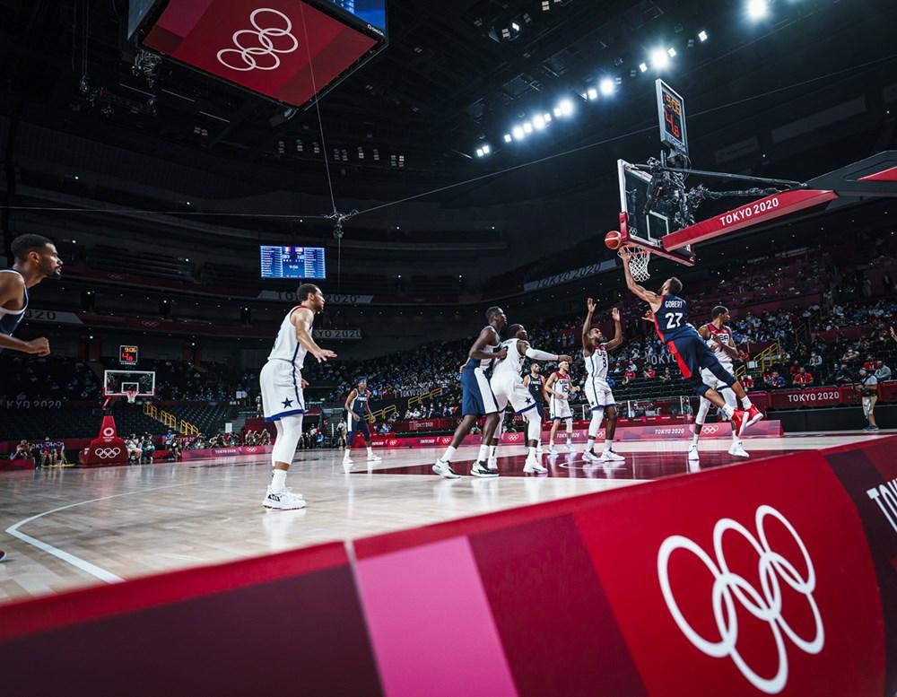
[[[691,244],[675,249],[664,246],[664,239],[674,232],[666,215],[649,209],[648,189],[651,175],[636,169],[630,162],[617,160],[620,181],[620,240],[625,245],[648,249],[677,264],[694,266]]]

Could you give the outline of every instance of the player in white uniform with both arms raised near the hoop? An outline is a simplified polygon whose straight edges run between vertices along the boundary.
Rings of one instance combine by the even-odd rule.
[[[622,462],[623,457],[614,452],[614,433],[616,432],[616,402],[611,386],[607,384],[607,367],[610,360],[608,351],[613,351],[623,344],[623,327],[620,324],[620,310],[612,309],[611,318],[614,319],[614,338],[605,342],[604,335],[598,327],[592,327],[592,316],[595,314],[595,301],[588,298],[586,301],[588,313],[586,321],[582,323],[582,356],[586,361],[586,397],[591,410],[591,421],[588,423],[588,443],[582,453],[582,458],[588,462],[601,460],[603,462]],[[601,457],[594,452],[595,440],[598,431],[601,430],[601,422],[607,417],[605,427],[605,449]]]

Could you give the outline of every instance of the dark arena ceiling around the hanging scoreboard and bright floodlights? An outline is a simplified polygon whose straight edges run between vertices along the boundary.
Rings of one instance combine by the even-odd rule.
[[[320,102],[325,147],[315,109],[141,63],[125,0],[0,0],[0,115],[210,170],[251,161],[299,191],[319,190],[326,157],[355,195],[381,200],[603,143],[439,195],[457,206],[613,187],[617,157],[658,151],[658,74],[687,100],[705,169],[802,179],[893,147],[897,5],[770,5],[752,21],[742,0],[392,0],[388,48]],[[641,71],[658,47],[677,47],[669,65]],[[504,142],[607,76],[613,96]]]

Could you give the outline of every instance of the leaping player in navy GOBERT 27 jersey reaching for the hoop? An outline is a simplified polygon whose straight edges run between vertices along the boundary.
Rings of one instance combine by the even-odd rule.
[[[626,287],[633,295],[649,304],[658,336],[675,357],[684,379],[694,385],[697,396],[704,397],[726,415],[726,418],[735,425],[736,434],[740,438],[748,426],[763,418],[763,414],[751,404],[745,388],[735,376],[723,368],[707,343],[701,339],[698,330],[689,324],[688,304],[679,297],[679,293],[682,292],[682,281],[675,277],[667,278],[659,293],[648,291],[632,278],[629,267],[631,254],[624,248],[617,254],[623,259]],[[717,390],[705,385],[701,381],[701,369],[710,370],[716,379],[731,388],[743,409],[727,405]]]

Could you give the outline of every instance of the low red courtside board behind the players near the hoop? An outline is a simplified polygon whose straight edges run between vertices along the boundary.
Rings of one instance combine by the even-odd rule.
[[[548,441],[551,431],[542,431],[542,440]],[[559,442],[564,442],[565,431],[558,430]],[[681,423],[669,426],[624,426],[618,428],[614,433],[614,440],[634,441],[634,440],[691,440],[694,434],[694,427],[690,423]],[[780,438],[783,434],[781,422],[775,419],[763,420],[755,423],[747,432],[749,438]],[[732,425],[730,423],[705,423],[701,430],[703,438],[731,438]],[[598,431],[597,439],[604,440],[605,430]],[[385,436],[373,436],[371,438],[371,446],[373,448],[427,448],[432,446],[448,446],[452,437],[444,436],[396,436],[390,433]],[[525,445],[527,435],[524,432],[502,433],[501,443],[508,445]],[[479,445],[480,436],[467,435],[464,438],[464,445]],[[573,431],[573,442],[584,443],[588,440],[588,430],[575,429]],[[361,439],[355,440],[354,448],[364,448],[364,442]]]

